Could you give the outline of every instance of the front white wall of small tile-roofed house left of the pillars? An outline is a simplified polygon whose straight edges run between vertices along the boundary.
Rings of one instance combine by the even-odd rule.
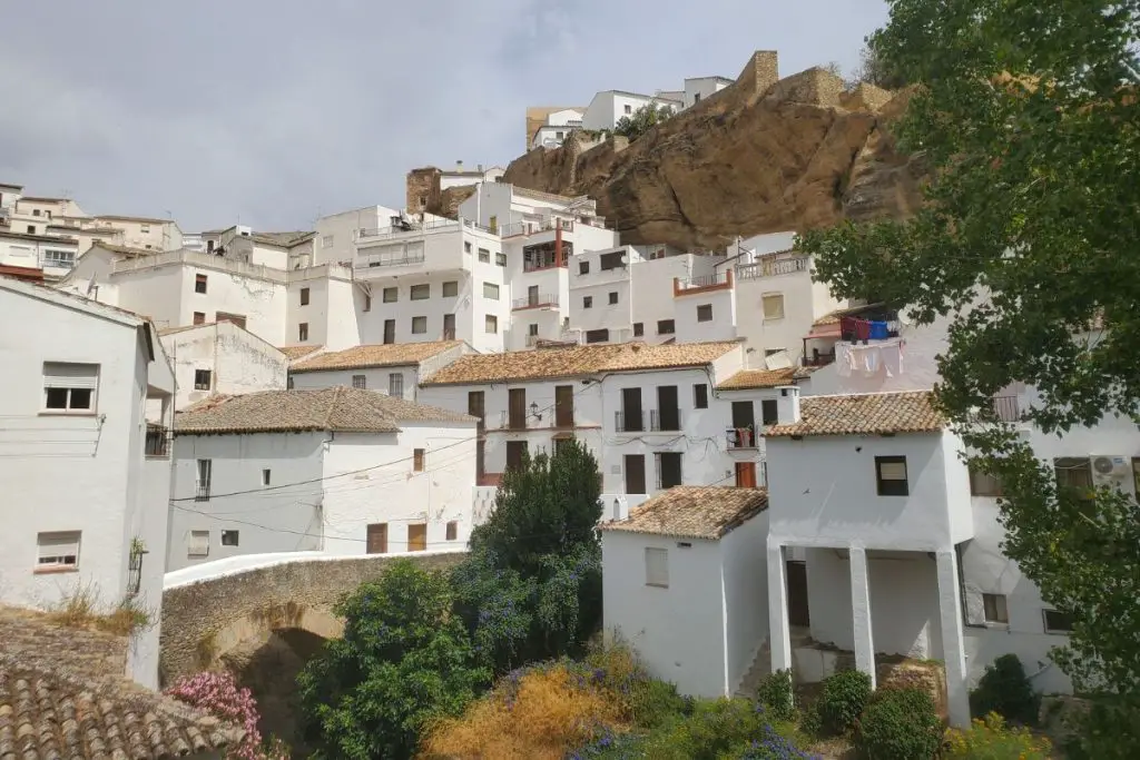
[[[603,623],[683,694],[724,696],[725,603],[716,541],[603,531]],[[668,551],[669,588],[645,585],[645,548]]]

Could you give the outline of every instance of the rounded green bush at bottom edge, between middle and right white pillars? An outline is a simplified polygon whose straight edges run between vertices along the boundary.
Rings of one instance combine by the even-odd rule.
[[[883,689],[860,717],[855,747],[868,760],[930,760],[942,745],[942,734],[929,693]]]

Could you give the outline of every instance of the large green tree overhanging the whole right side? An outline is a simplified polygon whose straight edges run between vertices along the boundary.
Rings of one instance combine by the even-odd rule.
[[[1131,757],[1140,738],[1140,522],[1112,490],[1059,489],[1051,463],[995,422],[990,399],[1036,390],[1045,433],[1138,419],[1140,113],[1138,0],[890,0],[872,35],[886,68],[921,87],[895,125],[929,170],[905,221],[804,236],[837,295],[948,316],[939,400],[975,466],[1003,484],[1005,553],[1072,615],[1057,661],[1104,689],[1115,732],[1092,752]],[[1115,736],[1113,734],[1115,733]],[[1094,729],[1088,742],[1099,741]]]

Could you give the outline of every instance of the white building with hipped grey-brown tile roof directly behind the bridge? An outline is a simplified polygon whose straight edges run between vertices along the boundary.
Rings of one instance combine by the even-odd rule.
[[[168,570],[242,554],[462,548],[475,420],[332,387],[215,397],[178,415]]]

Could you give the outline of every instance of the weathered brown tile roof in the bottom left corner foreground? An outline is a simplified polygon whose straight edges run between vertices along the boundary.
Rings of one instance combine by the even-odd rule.
[[[0,758],[160,760],[213,753],[235,726],[123,677],[127,639],[0,608]]]

